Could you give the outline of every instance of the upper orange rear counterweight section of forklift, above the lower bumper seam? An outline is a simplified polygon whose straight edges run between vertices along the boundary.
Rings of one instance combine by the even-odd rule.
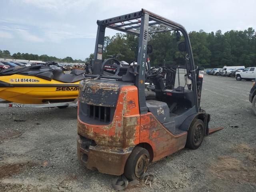
[[[108,125],[86,124],[78,116],[78,134],[90,138],[102,146],[122,148],[134,146],[139,142],[140,126],[138,100],[134,99],[137,94],[135,86],[124,86],[120,89],[114,117]],[[127,100],[132,99],[135,107],[129,108]]]

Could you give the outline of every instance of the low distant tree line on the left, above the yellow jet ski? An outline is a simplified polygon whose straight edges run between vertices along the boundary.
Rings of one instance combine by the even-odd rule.
[[[24,59],[24,60],[36,60],[36,61],[55,61],[55,62],[64,62],[64,63],[84,63],[85,61],[80,59],[73,59],[72,57],[65,57],[63,59],[56,58],[54,56],[48,56],[48,55],[40,55],[37,54],[28,54],[28,53],[14,53],[10,54],[8,50],[0,50],[0,58],[6,58],[6,59]]]

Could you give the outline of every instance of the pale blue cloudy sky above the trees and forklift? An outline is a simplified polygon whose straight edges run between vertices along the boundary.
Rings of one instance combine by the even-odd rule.
[[[226,32],[256,29],[255,7],[256,0],[0,0],[0,50],[84,60],[94,52],[97,20],[145,8],[188,32]]]

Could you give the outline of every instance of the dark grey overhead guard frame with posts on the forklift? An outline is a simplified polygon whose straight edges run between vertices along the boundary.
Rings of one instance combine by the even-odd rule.
[[[186,43],[186,49],[189,55],[189,60],[186,68],[190,69],[190,78],[192,80],[192,90],[194,92],[196,112],[199,112],[198,102],[198,88],[196,81],[196,70],[194,66],[194,58],[192,54],[192,48],[186,29],[181,25],[172,20],[168,20],[164,17],[158,16],[148,10],[142,9],[138,12],[131,14],[125,14],[122,16],[109,18],[106,20],[97,20],[98,30],[96,37],[96,44],[94,50],[94,59],[92,60],[92,75],[87,77],[96,77],[101,73],[102,68],[102,52],[104,47],[104,36],[106,28],[111,28],[121,32],[134,34],[139,36],[138,56],[137,56],[137,72],[134,73],[134,83],[138,88],[138,100],[140,114],[146,114],[148,108],[146,106],[145,98],[145,73],[146,73],[146,62],[147,62],[147,45],[148,45],[148,34],[154,34],[158,32],[167,31],[180,31],[184,36]],[[108,77],[104,77],[108,78]],[[115,77],[111,76],[111,79]],[[116,80],[122,80],[122,78],[116,78]],[[123,80],[124,81],[124,80]],[[202,87],[201,87],[202,88]]]

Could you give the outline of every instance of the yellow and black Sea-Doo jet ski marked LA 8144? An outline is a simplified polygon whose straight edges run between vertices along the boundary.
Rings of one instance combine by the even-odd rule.
[[[48,65],[18,66],[0,72],[0,98],[22,104],[72,102],[78,97],[83,70],[65,74]]]

